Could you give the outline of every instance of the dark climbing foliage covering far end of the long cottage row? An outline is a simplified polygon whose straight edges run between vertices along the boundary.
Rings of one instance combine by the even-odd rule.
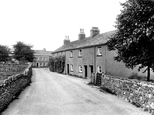
[[[63,73],[65,68],[65,56],[50,57],[49,69],[52,72]]]

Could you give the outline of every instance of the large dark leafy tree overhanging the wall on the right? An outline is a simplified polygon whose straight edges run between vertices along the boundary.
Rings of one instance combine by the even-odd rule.
[[[108,42],[109,50],[116,50],[116,61],[126,67],[139,65],[146,68],[150,80],[150,68],[154,70],[154,2],[151,0],[127,0],[117,16],[117,32]]]

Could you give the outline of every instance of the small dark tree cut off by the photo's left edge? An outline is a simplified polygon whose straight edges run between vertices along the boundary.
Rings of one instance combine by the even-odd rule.
[[[0,61],[6,62],[10,60],[10,49],[7,46],[0,45]]]

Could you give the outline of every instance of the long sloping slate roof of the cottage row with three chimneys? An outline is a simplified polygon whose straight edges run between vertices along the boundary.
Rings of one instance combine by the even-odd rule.
[[[97,45],[101,45],[101,44],[106,44],[107,41],[109,40],[109,37],[111,37],[115,33],[116,33],[116,30],[96,35],[93,38],[92,37],[87,37],[87,38],[85,38],[83,40],[72,41],[67,45],[61,46],[60,48],[56,49],[52,53],[66,51],[66,50],[72,50],[72,49],[78,49],[78,48],[85,48],[85,47],[90,47],[90,46],[97,46]]]

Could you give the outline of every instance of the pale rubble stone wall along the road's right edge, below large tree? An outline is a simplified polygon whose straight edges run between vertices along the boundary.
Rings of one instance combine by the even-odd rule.
[[[112,94],[154,113],[154,83],[102,75],[101,87]]]

